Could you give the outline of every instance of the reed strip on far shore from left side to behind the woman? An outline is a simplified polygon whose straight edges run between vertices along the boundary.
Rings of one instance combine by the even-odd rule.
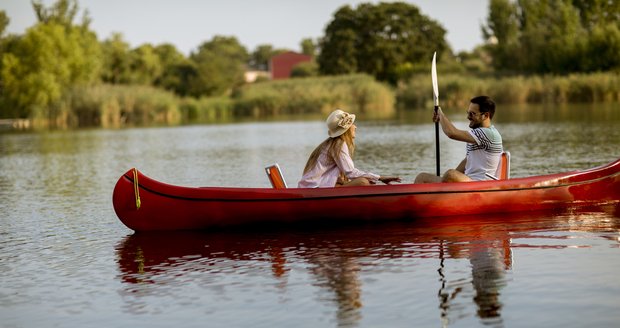
[[[51,108],[31,111],[41,128],[177,125],[298,114],[326,115],[340,107],[368,117],[394,114],[394,92],[367,75],[248,84],[231,97],[181,98],[149,86],[74,87]]]

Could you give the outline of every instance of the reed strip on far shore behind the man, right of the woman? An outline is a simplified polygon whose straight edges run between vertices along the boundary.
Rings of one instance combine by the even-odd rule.
[[[465,77],[439,76],[439,98],[444,106],[466,106],[476,95],[489,95],[498,103],[583,103],[620,101],[620,74],[594,73],[569,76]],[[420,75],[397,90],[399,107],[428,107],[433,90],[430,75]]]

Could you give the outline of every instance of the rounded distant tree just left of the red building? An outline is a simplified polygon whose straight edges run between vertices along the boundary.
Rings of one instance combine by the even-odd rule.
[[[237,38],[215,36],[190,55],[196,75],[190,78],[189,94],[220,96],[244,83],[248,53]]]

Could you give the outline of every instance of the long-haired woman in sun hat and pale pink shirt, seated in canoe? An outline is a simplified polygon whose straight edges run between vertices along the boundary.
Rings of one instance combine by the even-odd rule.
[[[381,181],[400,182],[399,177],[383,177],[360,171],[353,165],[355,151],[355,115],[340,109],[327,117],[329,138],[310,154],[299,188],[368,186]]]

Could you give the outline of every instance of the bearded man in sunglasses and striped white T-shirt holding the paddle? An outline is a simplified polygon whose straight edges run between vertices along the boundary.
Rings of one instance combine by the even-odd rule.
[[[495,103],[487,96],[478,96],[470,101],[467,119],[471,130],[457,129],[441,108],[433,115],[433,121],[439,122],[443,132],[450,138],[467,143],[467,155],[456,167],[438,177],[430,173],[420,173],[415,183],[431,182],[465,182],[489,180],[495,176],[503,151],[502,136],[497,132],[491,120],[495,115]]]

